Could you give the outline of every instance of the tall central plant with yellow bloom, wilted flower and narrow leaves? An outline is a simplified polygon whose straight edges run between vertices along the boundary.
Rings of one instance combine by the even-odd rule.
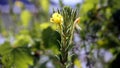
[[[62,68],[69,67],[68,57],[71,56],[68,52],[73,48],[73,34],[76,25],[80,21],[80,18],[77,18],[77,10],[72,9],[68,6],[62,8],[62,10],[57,10],[53,13],[50,22],[57,24],[58,32],[61,35],[61,40],[58,41],[60,45],[60,55],[57,56]]]

